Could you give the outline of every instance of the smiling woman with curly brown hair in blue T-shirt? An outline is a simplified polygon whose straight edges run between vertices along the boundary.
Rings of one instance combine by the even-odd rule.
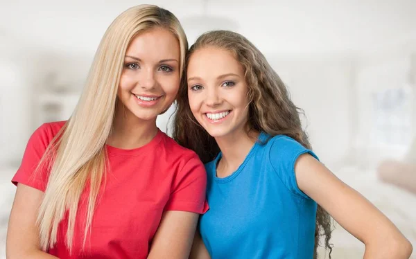
[[[206,163],[210,206],[193,258],[317,258],[322,235],[331,252],[331,216],[365,244],[365,258],[410,256],[396,226],[320,163],[300,109],[248,39],[201,35],[186,73],[173,138]]]

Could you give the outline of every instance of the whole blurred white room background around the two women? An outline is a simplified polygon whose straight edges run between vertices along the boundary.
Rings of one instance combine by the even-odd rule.
[[[321,161],[416,247],[415,0],[0,0],[0,258],[29,136],[71,116],[107,26],[140,3],[171,10],[190,44],[218,28],[248,37],[304,109]],[[363,256],[341,226],[332,242],[332,258]]]

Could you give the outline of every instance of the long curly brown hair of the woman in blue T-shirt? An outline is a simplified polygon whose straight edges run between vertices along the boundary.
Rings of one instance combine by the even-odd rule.
[[[229,51],[239,61],[245,71],[245,82],[248,85],[249,111],[248,130],[266,132],[270,136],[284,134],[295,139],[305,148],[311,149],[308,136],[302,130],[300,113],[279,75],[268,64],[261,52],[239,33],[228,30],[214,30],[198,37],[195,44],[187,53],[185,69],[191,55],[198,49],[207,46]],[[186,70],[185,70],[186,71]],[[220,149],[214,137],[196,121],[189,107],[186,72],[182,77],[173,123],[173,139],[180,145],[194,150],[202,162],[214,159]],[[315,252],[313,258],[318,258],[317,249],[320,237],[324,238],[324,247],[329,250],[331,258],[331,216],[318,205],[315,224]]]

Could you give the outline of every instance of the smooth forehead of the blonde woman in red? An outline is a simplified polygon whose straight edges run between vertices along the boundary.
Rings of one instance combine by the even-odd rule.
[[[139,57],[141,60],[177,59],[180,57],[179,40],[164,28],[152,28],[133,37],[126,55]]]

